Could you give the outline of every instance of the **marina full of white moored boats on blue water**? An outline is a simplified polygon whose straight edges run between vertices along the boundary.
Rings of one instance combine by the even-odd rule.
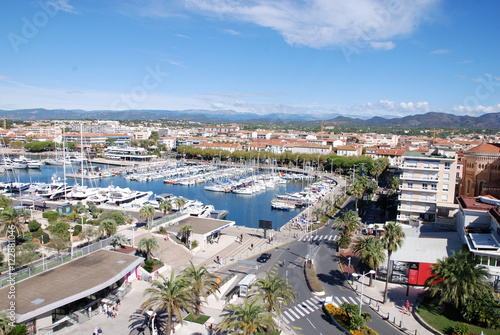
[[[312,182],[309,177],[294,174],[259,174],[253,168],[219,169],[209,164],[185,166],[179,162],[157,162],[156,166],[109,169],[107,165],[94,165],[99,167],[101,174],[106,174],[108,177],[88,179],[85,175],[82,178],[81,166],[82,163],[71,166],[44,165],[41,169],[33,170],[16,169],[3,173],[0,176],[0,182],[4,185],[12,184],[10,189],[6,187],[4,192],[12,193],[16,197],[22,196],[26,200],[34,200],[34,198],[64,200],[66,198],[74,199],[76,203],[78,200],[86,199],[96,204],[106,203],[106,207],[117,206],[124,210],[139,210],[144,204],[151,204],[158,208],[161,201],[158,196],[170,194],[172,200],[173,197],[187,199],[188,202],[183,210],[191,215],[226,217],[228,220],[235,221],[237,225],[249,228],[258,227],[259,220],[270,220],[273,222],[274,229],[279,229],[297,216],[298,208],[306,204],[285,199],[280,201],[288,204],[288,207],[272,206],[276,197],[282,194],[291,195],[303,192],[304,188]],[[64,170],[66,170],[67,177],[72,176],[72,178],[66,178],[66,183],[63,180]],[[181,173],[180,170],[183,172]],[[171,175],[165,177],[168,171]],[[148,178],[130,178],[144,175]],[[160,178],[158,175],[163,177]],[[167,178],[172,182],[165,183]],[[194,183],[183,182],[186,179],[193,180]],[[34,192],[33,187],[36,183],[40,184],[37,185],[40,190]],[[232,185],[233,192],[206,189],[207,186],[216,185]],[[48,190],[44,190],[44,187]],[[260,190],[251,194],[234,192],[257,187]],[[64,196],[64,190],[67,190],[66,196]],[[175,205],[173,208],[176,209]]]

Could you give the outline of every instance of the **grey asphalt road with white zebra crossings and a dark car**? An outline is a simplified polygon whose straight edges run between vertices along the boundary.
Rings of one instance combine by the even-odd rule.
[[[288,324],[297,334],[343,334],[324,314],[321,308],[324,297],[314,296],[305,281],[304,262],[310,248],[315,252],[314,264],[326,296],[333,295],[341,301],[359,304],[358,295],[350,289],[339,267],[337,244],[334,241],[337,234],[338,231],[327,225],[318,231],[315,241],[294,241],[274,249],[268,263],[259,267],[259,277],[263,276],[264,271],[269,271],[287,278],[298,292],[297,303],[293,306],[282,306],[282,322]],[[369,307],[363,306],[362,310],[371,314],[372,321],[368,322],[367,326],[377,333],[401,334]]]

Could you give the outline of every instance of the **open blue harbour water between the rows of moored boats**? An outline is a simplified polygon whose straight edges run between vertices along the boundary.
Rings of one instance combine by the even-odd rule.
[[[103,168],[105,169],[106,167]],[[67,174],[76,173],[77,171],[77,167],[66,167]],[[0,181],[5,183],[13,181],[20,181],[23,183],[50,183],[53,176],[60,178],[62,181],[63,175],[62,166],[44,165],[41,170],[20,169],[6,171],[0,177]],[[69,185],[81,183],[79,179],[75,180],[72,178],[67,178],[66,182]],[[122,188],[128,187],[137,191],[152,191],[153,194],[170,193],[190,200],[199,200],[205,205],[213,205],[215,209],[218,210],[227,210],[229,214],[226,219],[235,221],[236,225],[257,228],[259,220],[270,220],[273,222],[274,229],[280,228],[291,218],[295,217],[299,213],[299,210],[274,210],[271,208],[271,200],[273,200],[277,194],[297,192],[307,186],[306,181],[288,181],[286,185],[278,184],[275,188],[268,188],[257,194],[243,195],[205,191],[203,188],[206,184],[204,183],[193,186],[182,186],[164,184],[161,179],[149,182],[129,181],[121,176],[113,176],[97,181],[84,180],[83,184],[90,187],[107,187],[109,185],[114,185]]]

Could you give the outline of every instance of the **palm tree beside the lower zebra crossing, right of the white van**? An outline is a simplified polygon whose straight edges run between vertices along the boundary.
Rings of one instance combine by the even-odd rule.
[[[276,310],[280,317],[280,301],[285,305],[291,305],[297,301],[297,292],[293,290],[288,280],[276,275],[271,276],[267,271],[266,278],[257,279],[252,286],[255,286],[256,290],[251,295],[262,300],[267,305],[268,312]]]

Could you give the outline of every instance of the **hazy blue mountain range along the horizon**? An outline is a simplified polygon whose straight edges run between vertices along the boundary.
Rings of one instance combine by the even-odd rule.
[[[233,110],[126,110],[126,111],[83,111],[63,109],[17,109],[0,110],[0,118],[13,120],[53,120],[53,119],[94,119],[94,120],[186,120],[199,122],[318,122],[324,120],[327,125],[344,126],[388,126],[408,128],[477,128],[500,129],[500,113],[488,113],[481,116],[454,115],[429,112],[401,118],[347,117],[340,114],[319,116],[291,113],[239,113]]]

